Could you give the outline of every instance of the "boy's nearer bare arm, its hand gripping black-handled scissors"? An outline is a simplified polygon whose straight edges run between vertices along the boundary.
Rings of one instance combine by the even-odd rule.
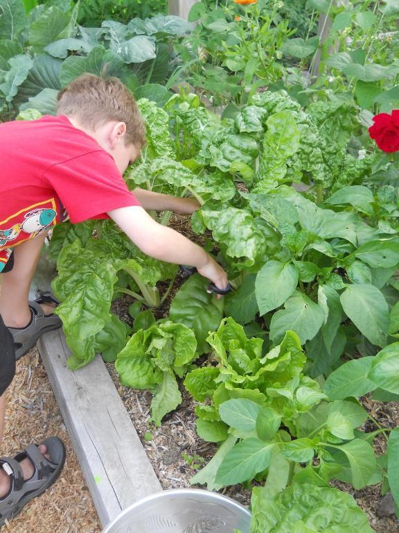
[[[114,209],[108,214],[143,253],[169,263],[197,267],[216,287],[226,289],[227,273],[211,255],[181,233],[161,226],[139,205]]]

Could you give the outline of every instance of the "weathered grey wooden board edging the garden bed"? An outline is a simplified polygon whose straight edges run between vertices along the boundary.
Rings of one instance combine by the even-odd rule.
[[[38,344],[55,397],[103,525],[132,503],[161,491],[157,475],[103,359],[67,368],[62,330]]]

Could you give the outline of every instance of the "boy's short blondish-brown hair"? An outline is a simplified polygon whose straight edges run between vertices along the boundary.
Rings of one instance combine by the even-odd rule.
[[[143,117],[132,93],[118,78],[82,74],[58,93],[56,111],[88,128],[111,120],[125,122],[125,144],[139,148],[145,144]]]

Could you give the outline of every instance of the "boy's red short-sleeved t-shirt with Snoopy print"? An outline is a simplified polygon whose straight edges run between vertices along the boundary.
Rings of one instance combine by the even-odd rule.
[[[0,124],[0,272],[13,246],[68,216],[140,205],[112,155],[67,117]]]

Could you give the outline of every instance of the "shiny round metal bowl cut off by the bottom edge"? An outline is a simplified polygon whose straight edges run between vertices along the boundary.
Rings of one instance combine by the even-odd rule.
[[[251,513],[218,493],[170,489],[130,505],[103,533],[249,533]]]

